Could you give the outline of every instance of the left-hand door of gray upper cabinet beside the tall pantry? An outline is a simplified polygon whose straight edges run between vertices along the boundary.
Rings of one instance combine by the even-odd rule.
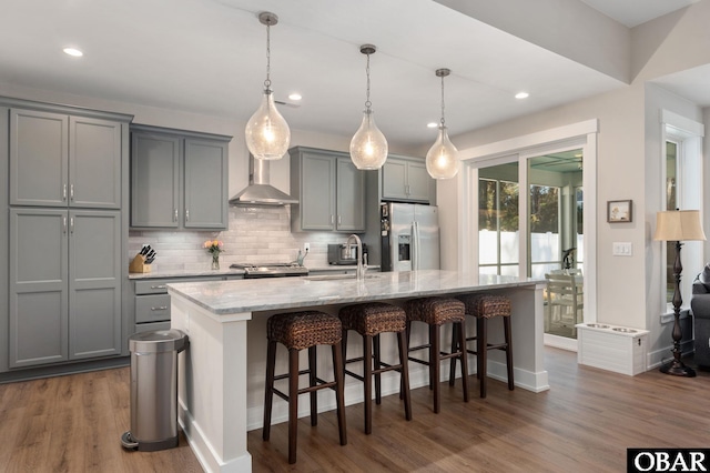
[[[134,132],[131,141],[131,227],[180,227],[181,139]]]

